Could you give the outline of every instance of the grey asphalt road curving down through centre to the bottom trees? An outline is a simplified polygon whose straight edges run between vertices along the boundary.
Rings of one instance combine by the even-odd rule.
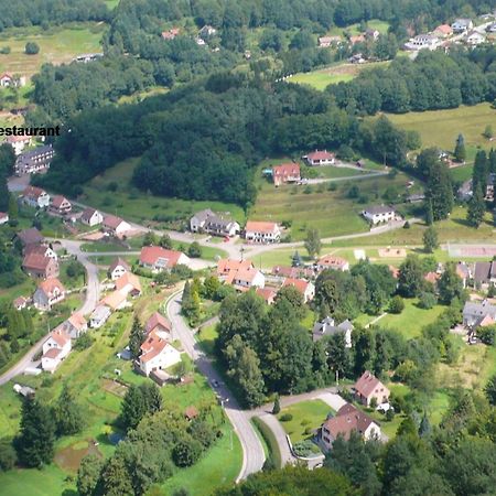
[[[169,300],[165,311],[172,322],[177,337],[183,345],[184,351],[193,359],[198,370],[208,379],[209,385],[220,399],[224,411],[238,434],[242,448],[242,466],[236,482],[248,477],[250,474],[259,472],[263,466],[266,455],[263,453],[262,444],[250,423],[250,414],[239,407],[235,396],[222,381],[222,377],[215,370],[211,359],[200,348],[192,330],[188,325],[186,325],[181,316],[180,292],[174,294]],[[218,386],[214,387],[214,384],[218,384]]]

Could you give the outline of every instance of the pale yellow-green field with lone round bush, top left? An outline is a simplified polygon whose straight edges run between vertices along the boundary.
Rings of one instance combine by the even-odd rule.
[[[75,55],[101,52],[100,40],[105,28],[104,23],[79,23],[47,30],[34,26],[8,29],[0,34],[0,48],[10,46],[11,52],[0,55],[0,73],[32,76],[45,63],[68,63]],[[36,42],[40,53],[25,55],[28,42]]]

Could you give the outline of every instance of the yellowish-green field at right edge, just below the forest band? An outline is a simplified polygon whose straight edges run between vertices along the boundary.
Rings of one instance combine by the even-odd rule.
[[[496,110],[489,104],[387,116],[401,128],[418,131],[423,148],[441,147],[443,150],[453,150],[460,133],[464,136],[466,145],[490,148],[492,142],[482,133],[487,125],[496,129]]]

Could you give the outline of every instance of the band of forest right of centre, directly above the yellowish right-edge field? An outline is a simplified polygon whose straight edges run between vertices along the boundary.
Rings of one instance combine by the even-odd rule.
[[[422,51],[416,61],[397,58],[388,67],[363,72],[349,83],[327,87],[342,108],[374,115],[378,110],[407,112],[455,108],[494,101],[496,48],[472,52]]]

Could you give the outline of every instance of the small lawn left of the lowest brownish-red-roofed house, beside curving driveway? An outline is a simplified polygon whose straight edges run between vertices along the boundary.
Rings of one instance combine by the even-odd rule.
[[[309,430],[317,429],[330,412],[332,412],[331,407],[322,400],[301,401],[283,408],[278,414],[278,419],[294,444],[311,438],[312,434]],[[292,420],[281,421],[281,417],[288,413],[293,416]]]

